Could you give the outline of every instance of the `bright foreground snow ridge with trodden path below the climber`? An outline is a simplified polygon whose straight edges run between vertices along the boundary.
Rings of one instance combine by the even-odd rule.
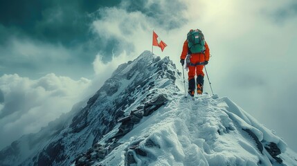
[[[143,118],[120,139],[123,145],[101,163],[124,165],[123,151],[141,140],[139,147],[148,156],[128,150],[134,154],[137,165],[271,165],[269,153],[264,149],[261,154],[255,141],[242,129],[251,129],[259,140],[276,142],[282,151],[287,147],[281,138],[228,98],[200,95],[192,101],[178,93],[165,107]],[[144,140],[152,140],[160,148],[145,147]],[[292,156],[285,156],[284,164],[297,165]]]

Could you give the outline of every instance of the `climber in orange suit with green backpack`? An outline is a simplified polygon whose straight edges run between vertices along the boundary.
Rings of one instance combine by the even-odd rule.
[[[197,74],[197,94],[201,95],[204,85],[204,65],[208,64],[210,57],[208,44],[204,40],[201,30],[190,30],[186,41],[183,43],[183,51],[181,52],[181,65],[188,67],[188,93],[191,96],[195,94],[195,73]]]

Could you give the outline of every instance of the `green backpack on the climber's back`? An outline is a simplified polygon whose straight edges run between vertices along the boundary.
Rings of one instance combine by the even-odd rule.
[[[190,53],[203,53],[205,50],[204,44],[204,35],[201,30],[190,30],[187,34],[188,47]]]

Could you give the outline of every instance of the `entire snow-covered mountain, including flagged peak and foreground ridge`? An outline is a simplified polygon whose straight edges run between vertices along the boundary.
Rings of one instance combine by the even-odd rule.
[[[145,51],[73,110],[0,151],[0,165],[297,165],[228,98],[184,98],[169,57]]]

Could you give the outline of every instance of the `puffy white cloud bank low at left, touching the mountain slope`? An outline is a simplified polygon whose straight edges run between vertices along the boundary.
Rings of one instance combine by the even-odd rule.
[[[53,73],[38,80],[19,75],[0,77],[4,100],[0,107],[0,149],[25,133],[37,132],[61,113],[71,110],[86,98],[91,80],[57,76]],[[89,94],[88,94],[89,95]]]

